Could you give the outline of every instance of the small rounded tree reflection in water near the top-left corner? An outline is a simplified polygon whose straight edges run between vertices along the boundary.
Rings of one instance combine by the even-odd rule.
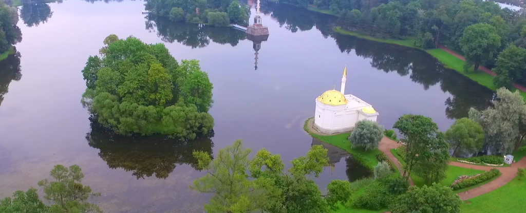
[[[44,24],[51,16],[53,16],[51,7],[44,3],[24,4],[20,9],[20,18],[22,18],[22,21],[28,27],[38,26],[41,23]]]

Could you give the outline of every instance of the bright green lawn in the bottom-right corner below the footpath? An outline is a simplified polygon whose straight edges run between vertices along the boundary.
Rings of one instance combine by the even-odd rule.
[[[468,201],[462,205],[462,213],[524,212],[526,178],[515,178],[498,189]]]

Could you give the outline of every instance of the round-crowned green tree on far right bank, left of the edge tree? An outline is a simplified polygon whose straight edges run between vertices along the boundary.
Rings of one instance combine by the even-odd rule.
[[[489,24],[481,23],[466,27],[460,38],[460,46],[466,57],[464,70],[474,65],[474,71],[477,71],[481,63],[491,62],[501,45],[500,39],[497,29]]]

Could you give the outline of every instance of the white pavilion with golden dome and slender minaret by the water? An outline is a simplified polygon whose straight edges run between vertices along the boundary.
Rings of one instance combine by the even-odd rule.
[[[378,112],[371,104],[352,94],[345,94],[346,81],[347,66],[343,69],[340,91],[328,90],[316,98],[314,127],[319,132],[325,134],[348,132],[358,121],[367,119],[376,122]]]

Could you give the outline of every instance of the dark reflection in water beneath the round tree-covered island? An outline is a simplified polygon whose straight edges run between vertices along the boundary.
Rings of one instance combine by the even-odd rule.
[[[213,156],[213,135],[198,137],[193,141],[178,141],[166,137],[122,136],[90,119],[91,131],[86,134],[89,146],[98,148],[99,157],[110,168],[123,168],[139,178],[155,175],[167,178],[177,165],[189,164],[196,168],[193,151],[204,151]],[[213,133],[212,133],[213,134]]]

